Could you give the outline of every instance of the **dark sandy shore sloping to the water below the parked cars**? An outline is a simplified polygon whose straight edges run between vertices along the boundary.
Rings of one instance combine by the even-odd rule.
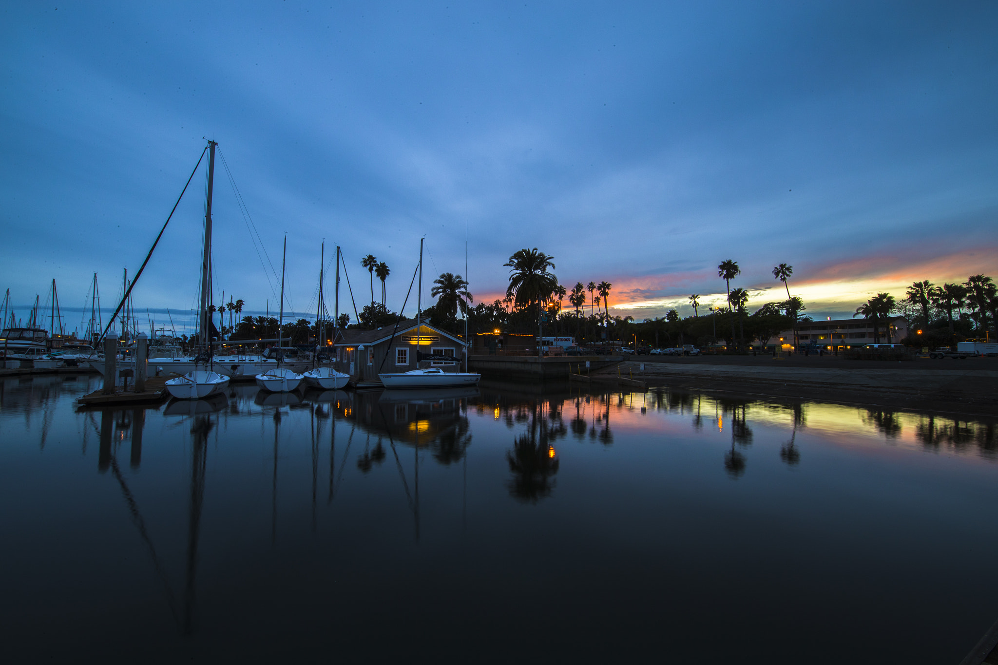
[[[649,386],[998,417],[998,358],[888,363],[833,356],[639,357],[621,364],[620,372]]]

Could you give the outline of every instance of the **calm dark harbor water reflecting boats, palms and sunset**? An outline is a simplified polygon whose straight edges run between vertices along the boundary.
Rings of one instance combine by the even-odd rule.
[[[96,387],[0,384],[7,662],[956,663],[998,618],[992,423]]]

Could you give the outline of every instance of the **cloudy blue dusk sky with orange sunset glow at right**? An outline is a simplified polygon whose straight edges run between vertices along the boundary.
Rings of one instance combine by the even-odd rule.
[[[301,315],[323,241],[358,309],[386,262],[398,311],[424,237],[424,306],[445,271],[501,297],[537,247],[611,314],[720,303],[734,259],[749,307],[788,263],[807,313],[849,316],[998,277],[996,34],[991,0],[5,2],[0,289],[20,317],[55,279],[74,325],[96,272],[113,307],[212,139],[214,297],[244,315],[276,311],[286,236]],[[206,166],[139,310],[197,306]]]

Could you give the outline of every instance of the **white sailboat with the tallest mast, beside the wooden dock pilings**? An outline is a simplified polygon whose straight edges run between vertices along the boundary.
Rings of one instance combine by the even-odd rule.
[[[198,369],[198,363],[212,365],[211,314],[208,311],[212,282],[210,271],[212,266],[212,189],[215,183],[215,147],[214,141],[208,142],[211,154],[208,160],[208,202],[205,206],[205,256],[201,266],[201,330],[198,337],[200,353],[195,357],[195,369],[184,376],[170,379],[167,390],[181,400],[199,400],[203,397],[217,395],[229,386],[229,377],[223,376],[212,369]]]

